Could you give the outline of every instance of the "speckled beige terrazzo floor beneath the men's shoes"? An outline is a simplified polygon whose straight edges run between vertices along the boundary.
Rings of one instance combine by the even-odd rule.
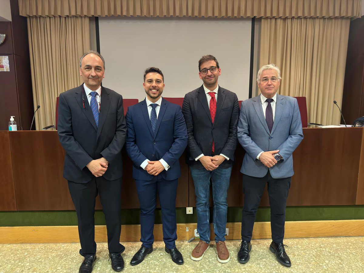
[[[197,241],[177,241],[185,263],[174,264],[164,250],[163,242],[155,242],[154,250],[137,265],[129,264],[140,248],[140,242],[124,243],[122,254],[126,261],[122,272],[364,272],[364,237],[286,239],[286,252],[292,267],[280,265],[269,251],[270,240],[252,240],[250,261],[239,264],[237,252],[240,241],[226,241],[230,261],[221,264],[216,259],[215,243],[210,243],[201,261],[190,259],[190,252]],[[78,272],[83,258],[78,254],[80,245],[75,244],[0,244],[0,273],[13,272]],[[97,259],[92,272],[114,272],[108,261],[106,243],[99,243]]]

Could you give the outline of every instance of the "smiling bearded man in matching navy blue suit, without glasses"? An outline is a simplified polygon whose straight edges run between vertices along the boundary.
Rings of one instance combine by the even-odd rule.
[[[142,246],[131,259],[140,264],[153,251],[156,195],[162,207],[163,241],[172,261],[183,264],[177,239],[176,195],[181,176],[179,157],[187,146],[187,128],[181,107],[162,98],[164,77],[149,67],[144,73],[145,100],[128,107],[126,151],[133,164],[133,178],[140,203]]]

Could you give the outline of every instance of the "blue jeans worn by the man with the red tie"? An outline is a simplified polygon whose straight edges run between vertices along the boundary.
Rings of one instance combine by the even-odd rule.
[[[214,233],[215,242],[225,241],[227,217],[227,189],[229,189],[232,167],[213,171],[191,168],[191,175],[195,185],[197,232],[200,239],[210,243],[210,179],[212,181],[212,196],[214,199]]]

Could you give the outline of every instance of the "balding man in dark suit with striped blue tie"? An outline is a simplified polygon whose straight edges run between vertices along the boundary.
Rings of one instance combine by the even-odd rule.
[[[121,95],[101,86],[105,62],[94,51],[80,58],[84,83],[59,96],[58,135],[66,151],[63,177],[68,180],[74,202],[84,257],[79,272],[92,271],[96,259],[95,198],[99,194],[105,214],[109,257],[112,269],[120,271],[121,149],[126,138],[126,122]]]

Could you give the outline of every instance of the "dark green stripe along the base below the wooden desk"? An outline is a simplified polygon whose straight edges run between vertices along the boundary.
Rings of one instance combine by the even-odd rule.
[[[185,208],[177,208],[177,223],[196,223],[197,215],[186,214]],[[139,224],[139,209],[123,209],[122,225]],[[213,209],[210,208],[210,222]],[[227,209],[227,222],[241,221],[242,207]],[[256,222],[270,219],[270,208],[260,207]],[[364,205],[360,206],[306,206],[287,207],[286,221],[349,220],[364,219]],[[155,223],[162,223],[162,211],[155,211]],[[75,211],[1,211],[0,226],[73,226],[77,225]],[[104,214],[95,211],[95,225],[105,225]]]

